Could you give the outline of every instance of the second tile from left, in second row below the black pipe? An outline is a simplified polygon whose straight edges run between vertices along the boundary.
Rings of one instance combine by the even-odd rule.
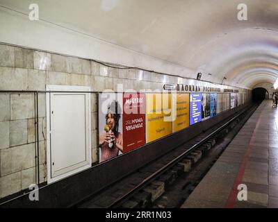
[[[27,144],[27,119],[10,121],[10,146]]]

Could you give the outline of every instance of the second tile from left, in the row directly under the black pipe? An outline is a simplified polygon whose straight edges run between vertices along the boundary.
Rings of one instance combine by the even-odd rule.
[[[10,95],[10,119],[30,119],[35,117],[33,94]]]

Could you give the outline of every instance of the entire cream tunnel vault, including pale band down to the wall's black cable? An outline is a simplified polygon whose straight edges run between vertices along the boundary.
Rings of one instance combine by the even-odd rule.
[[[33,22],[28,1],[1,0],[1,42],[247,89],[277,80],[275,0],[59,2],[38,0]]]

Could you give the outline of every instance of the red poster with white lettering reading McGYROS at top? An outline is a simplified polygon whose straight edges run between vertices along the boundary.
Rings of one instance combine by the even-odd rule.
[[[124,93],[122,130],[124,153],[145,145],[145,94]]]

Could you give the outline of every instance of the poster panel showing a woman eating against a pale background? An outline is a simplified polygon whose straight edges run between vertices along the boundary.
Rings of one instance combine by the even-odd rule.
[[[99,94],[99,162],[122,153],[122,93]]]

